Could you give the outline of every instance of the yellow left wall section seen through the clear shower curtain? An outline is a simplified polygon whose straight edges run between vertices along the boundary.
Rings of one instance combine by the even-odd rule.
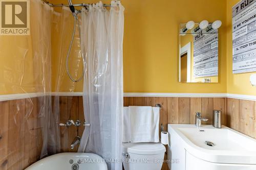
[[[30,3],[30,21],[35,19],[32,14],[38,12],[34,4]],[[41,31],[36,28],[31,23],[29,36],[0,35],[0,95],[41,92],[42,82],[38,81],[41,77],[37,71],[42,62],[37,61],[37,68],[34,67],[36,59],[32,51],[32,31]],[[35,47],[37,46],[34,44]]]

